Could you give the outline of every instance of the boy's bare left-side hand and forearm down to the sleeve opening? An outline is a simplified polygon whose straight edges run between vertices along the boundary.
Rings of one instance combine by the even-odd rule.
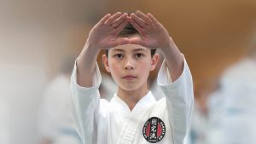
[[[100,49],[109,49],[119,44],[129,43],[126,38],[117,38],[126,26],[127,14],[107,14],[92,28],[89,37],[77,60],[77,81],[82,87],[92,86],[96,58]]]

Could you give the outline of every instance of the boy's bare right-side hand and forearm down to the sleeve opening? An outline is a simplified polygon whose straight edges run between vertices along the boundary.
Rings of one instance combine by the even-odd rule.
[[[172,81],[177,80],[183,72],[183,55],[166,28],[152,14],[143,14],[141,11],[131,14],[130,22],[143,37],[143,40],[132,38],[130,43],[140,44],[149,49],[161,49]]]

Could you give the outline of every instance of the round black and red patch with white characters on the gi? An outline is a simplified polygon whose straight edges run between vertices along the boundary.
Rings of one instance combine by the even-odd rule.
[[[166,125],[157,117],[149,118],[143,126],[143,136],[151,143],[161,141],[166,134]]]

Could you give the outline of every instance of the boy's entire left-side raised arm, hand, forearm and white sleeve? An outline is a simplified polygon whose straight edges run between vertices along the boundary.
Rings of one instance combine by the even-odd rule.
[[[116,38],[127,24],[126,16],[127,14],[121,13],[105,15],[90,31],[73,69],[73,119],[84,144],[96,143],[97,120],[100,118],[100,107],[103,105],[98,91],[101,74],[96,66],[96,57],[100,49],[109,49],[126,43],[125,38]]]

